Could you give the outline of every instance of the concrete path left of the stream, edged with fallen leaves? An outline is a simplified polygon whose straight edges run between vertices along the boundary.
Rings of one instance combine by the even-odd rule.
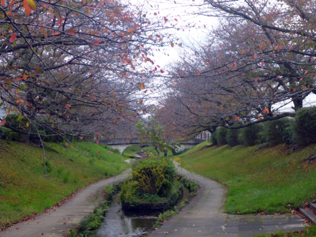
[[[106,185],[126,179],[131,169],[115,177],[102,180],[87,188],[79,191],[70,202],[51,210],[48,213],[37,216],[34,220],[25,221],[15,224],[14,226],[0,232],[1,237],[27,237],[27,236],[45,236],[45,237],[62,237],[67,230],[74,228],[75,224],[83,216],[89,214],[98,205],[98,201],[103,197],[95,200],[94,196]]]

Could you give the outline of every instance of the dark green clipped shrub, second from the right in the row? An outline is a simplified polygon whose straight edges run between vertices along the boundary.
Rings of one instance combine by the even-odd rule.
[[[270,145],[279,143],[289,144],[292,140],[292,131],[290,125],[293,119],[282,118],[274,121],[267,121],[263,126],[264,140]]]

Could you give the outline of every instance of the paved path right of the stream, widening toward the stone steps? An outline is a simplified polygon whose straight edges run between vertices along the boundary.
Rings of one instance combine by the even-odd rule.
[[[225,190],[222,185],[179,167],[177,172],[188,179],[195,179],[201,188],[190,204],[171,220],[165,221],[162,228],[149,234],[149,237],[237,237],[305,227],[304,219],[296,215],[234,216],[223,213]]]

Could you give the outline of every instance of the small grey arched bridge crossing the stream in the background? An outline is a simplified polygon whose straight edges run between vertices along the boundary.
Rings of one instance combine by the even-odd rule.
[[[194,147],[197,144],[203,143],[205,140],[199,138],[192,138],[189,141],[183,142],[178,151]],[[107,140],[100,140],[99,144],[108,145],[114,149],[119,149],[120,153],[123,154],[124,150],[133,145],[140,144],[137,137],[133,138],[113,138]]]

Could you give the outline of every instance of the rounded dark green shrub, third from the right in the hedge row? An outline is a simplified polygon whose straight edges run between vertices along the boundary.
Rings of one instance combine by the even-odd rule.
[[[254,146],[257,143],[260,143],[258,134],[261,129],[262,125],[258,124],[240,129],[240,134],[238,136],[239,142],[245,146]]]

